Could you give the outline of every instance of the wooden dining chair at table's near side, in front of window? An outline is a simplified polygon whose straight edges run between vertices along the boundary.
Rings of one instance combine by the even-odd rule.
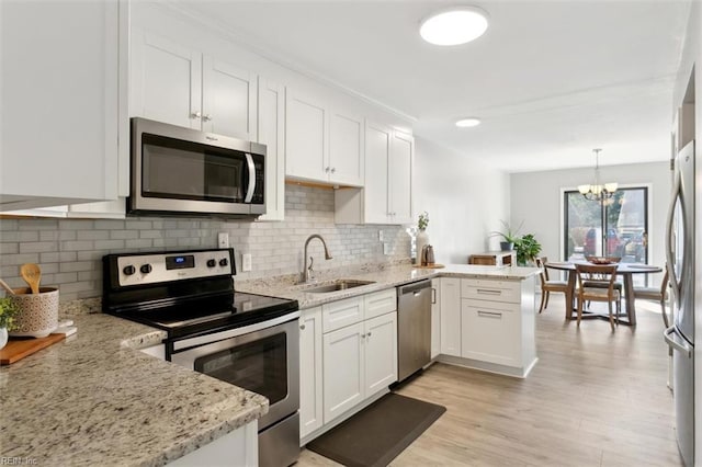
[[[614,287],[616,280],[616,264],[576,264],[575,273],[578,281],[578,326],[582,319],[582,307],[588,301],[607,301],[610,311],[610,327],[614,330],[614,315],[612,303],[616,304],[616,324],[622,310],[622,294]],[[598,284],[593,286],[593,284]]]

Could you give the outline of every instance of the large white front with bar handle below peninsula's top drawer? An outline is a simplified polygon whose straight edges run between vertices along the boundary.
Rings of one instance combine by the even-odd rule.
[[[519,305],[463,299],[461,356],[521,366]]]

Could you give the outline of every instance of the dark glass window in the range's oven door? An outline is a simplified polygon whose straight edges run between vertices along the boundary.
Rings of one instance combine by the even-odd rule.
[[[268,397],[287,396],[287,338],[280,333],[196,358],[196,372]]]

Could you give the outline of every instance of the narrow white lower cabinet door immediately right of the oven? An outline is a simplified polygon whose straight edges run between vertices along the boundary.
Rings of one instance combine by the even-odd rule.
[[[299,318],[299,436],[324,421],[321,381],[321,307],[302,310]]]

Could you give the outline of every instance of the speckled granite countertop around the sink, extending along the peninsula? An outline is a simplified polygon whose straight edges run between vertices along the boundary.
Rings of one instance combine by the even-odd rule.
[[[473,264],[448,264],[442,269],[419,269],[412,267],[410,264],[385,267],[372,272],[359,272],[343,274],[335,273],[336,278],[348,278],[354,281],[372,281],[373,284],[353,287],[346,291],[329,293],[308,293],[305,292],[313,287],[330,284],[333,280],[324,280],[314,284],[292,285],[288,281],[236,281],[235,288],[237,292],[247,292],[250,294],[273,295],[282,298],[295,299],[299,303],[299,308],[312,308],[329,301],[336,301],[342,298],[353,297],[356,295],[369,294],[372,292],[383,291],[389,287],[408,284],[410,282],[420,281],[422,278],[434,277],[472,277],[472,278],[492,278],[523,281],[526,277],[539,274],[537,267],[519,267],[519,266],[484,266]]]

